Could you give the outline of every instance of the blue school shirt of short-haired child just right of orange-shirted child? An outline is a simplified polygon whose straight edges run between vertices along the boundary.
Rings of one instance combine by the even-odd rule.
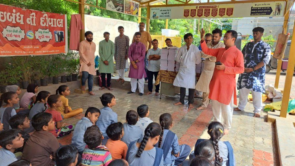
[[[125,142],[127,146],[129,146],[130,142],[142,141],[143,139],[142,130],[138,126],[124,123],[123,128],[124,128],[124,136],[121,138],[121,141]]]

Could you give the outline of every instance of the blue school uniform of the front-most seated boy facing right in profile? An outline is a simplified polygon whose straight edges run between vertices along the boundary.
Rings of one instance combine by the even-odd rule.
[[[118,122],[118,115],[109,107],[102,107],[100,110],[100,116],[96,121],[95,125],[99,127],[104,139],[102,140],[102,145],[106,144],[106,141],[109,139],[106,134],[106,128],[113,123]]]

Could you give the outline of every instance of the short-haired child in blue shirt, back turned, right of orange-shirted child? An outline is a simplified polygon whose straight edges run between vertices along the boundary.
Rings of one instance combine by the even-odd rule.
[[[124,136],[122,137],[122,141],[129,146],[130,142],[136,141],[141,142],[143,139],[142,130],[135,126],[138,121],[138,114],[134,110],[129,110],[126,114],[126,122],[123,124],[124,128]]]

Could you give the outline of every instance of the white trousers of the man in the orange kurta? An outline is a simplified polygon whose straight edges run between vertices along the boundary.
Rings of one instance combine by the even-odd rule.
[[[212,111],[214,120],[221,122],[222,116],[224,129],[229,130],[232,126],[232,113],[234,112],[234,94],[232,94],[229,105],[222,104],[217,100],[212,100]]]

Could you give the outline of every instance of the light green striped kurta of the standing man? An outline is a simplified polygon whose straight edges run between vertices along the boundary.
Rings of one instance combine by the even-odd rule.
[[[114,52],[115,52],[115,44],[111,40],[106,42],[106,40],[102,40],[99,42],[99,72],[100,73],[114,73]],[[104,61],[107,60],[109,65],[105,65]]]

